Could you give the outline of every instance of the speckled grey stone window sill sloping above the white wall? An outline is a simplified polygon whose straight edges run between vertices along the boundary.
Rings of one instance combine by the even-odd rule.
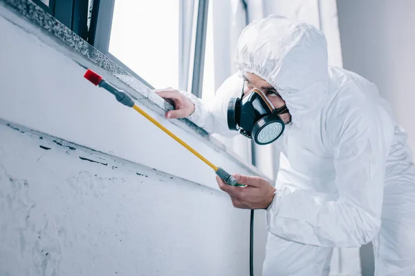
[[[53,39],[54,46],[57,50],[64,52],[64,54],[71,57],[73,61],[77,62],[83,68],[91,67],[89,64],[92,62],[95,65],[91,68],[92,70],[95,70],[95,72],[98,72],[121,89],[127,91],[131,97],[147,108],[154,110],[162,116],[167,110],[172,110],[172,105],[158,97],[144,83],[136,77],[133,77],[127,70],[124,70],[124,68],[109,59],[102,52],[93,48],[84,39],[57,21],[57,19],[46,11],[42,10],[42,8],[39,8],[32,1],[0,0],[0,8],[7,8],[15,12],[19,17],[24,17],[35,28],[40,28],[42,32],[46,32]],[[199,128],[199,126],[193,124],[192,121],[188,119],[174,119],[171,122],[189,132],[190,135],[198,137],[200,141],[208,144],[211,148],[228,155],[235,164],[248,170],[252,175],[264,177],[255,166],[241,161],[234,152],[228,150],[219,140],[209,135],[208,132]]]

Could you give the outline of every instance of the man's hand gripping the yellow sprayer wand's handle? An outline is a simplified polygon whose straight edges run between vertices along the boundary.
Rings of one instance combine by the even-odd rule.
[[[274,199],[275,188],[266,179],[247,175],[233,175],[238,184],[245,187],[230,186],[216,177],[219,188],[230,195],[235,208],[266,209]]]

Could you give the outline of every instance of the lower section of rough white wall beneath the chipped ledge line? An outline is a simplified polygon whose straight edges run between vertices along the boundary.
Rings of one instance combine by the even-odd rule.
[[[248,275],[227,195],[43,138],[0,124],[0,275]]]

